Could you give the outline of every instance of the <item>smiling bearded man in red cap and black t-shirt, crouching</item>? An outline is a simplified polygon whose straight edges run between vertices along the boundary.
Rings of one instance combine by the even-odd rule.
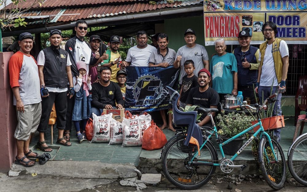
[[[219,94],[209,87],[211,81],[211,74],[207,69],[201,69],[198,72],[198,84],[199,87],[194,87],[190,90],[186,103],[190,106],[197,105],[203,108],[217,108],[220,97]],[[215,112],[211,113],[215,116]],[[206,113],[203,113],[200,117],[199,126],[212,127],[210,117]]]

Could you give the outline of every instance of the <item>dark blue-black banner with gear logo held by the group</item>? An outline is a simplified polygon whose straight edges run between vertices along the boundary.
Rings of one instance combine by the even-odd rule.
[[[169,108],[169,92],[166,86],[177,90],[179,69],[174,66],[128,66],[126,72],[126,110],[150,112]]]

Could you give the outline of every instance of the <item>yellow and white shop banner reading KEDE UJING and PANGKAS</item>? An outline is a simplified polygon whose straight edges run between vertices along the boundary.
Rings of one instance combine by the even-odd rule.
[[[218,38],[239,44],[244,29],[252,35],[251,44],[261,44],[265,41],[262,25],[267,21],[276,23],[276,37],[288,44],[307,43],[307,0],[205,0],[205,45],[214,45]]]

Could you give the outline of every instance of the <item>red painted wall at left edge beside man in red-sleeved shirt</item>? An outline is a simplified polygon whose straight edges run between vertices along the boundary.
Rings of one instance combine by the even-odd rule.
[[[0,53],[0,172],[8,172],[17,154],[14,132],[17,125],[10,87],[9,60],[13,52]]]

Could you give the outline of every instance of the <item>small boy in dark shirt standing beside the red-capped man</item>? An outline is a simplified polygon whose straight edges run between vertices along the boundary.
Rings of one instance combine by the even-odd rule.
[[[177,102],[177,106],[181,108],[185,108],[185,106],[187,105],[186,100],[190,90],[194,87],[198,87],[197,77],[193,73],[193,71],[195,70],[194,62],[192,60],[187,60],[184,63],[184,67],[187,75],[182,78],[180,96]],[[181,108],[179,108],[179,110],[182,111]]]

